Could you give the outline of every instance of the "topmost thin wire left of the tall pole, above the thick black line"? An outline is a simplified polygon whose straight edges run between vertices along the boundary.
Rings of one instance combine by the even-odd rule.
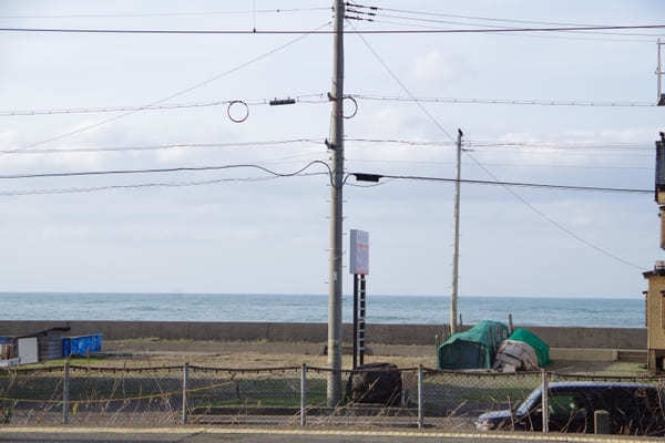
[[[235,14],[279,14],[290,12],[330,11],[329,7],[316,8],[288,8],[288,9],[256,9],[256,10],[226,10],[226,11],[174,11],[174,12],[108,12],[108,13],[73,13],[73,14],[16,14],[0,16],[0,19],[105,19],[105,18],[133,18],[133,17],[198,17],[198,16],[235,16]]]

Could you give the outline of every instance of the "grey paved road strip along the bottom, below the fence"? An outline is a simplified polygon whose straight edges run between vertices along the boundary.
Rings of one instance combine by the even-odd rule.
[[[612,439],[613,437],[613,439]],[[617,439],[612,436],[612,443],[617,442],[637,442],[654,441],[653,439]],[[341,442],[361,442],[361,443],[524,443],[541,442],[554,443],[561,442],[561,435],[548,437],[542,434],[515,433],[508,434],[453,434],[453,433],[418,433],[418,432],[381,432],[381,431],[255,431],[255,430],[224,430],[224,429],[164,429],[152,430],[132,430],[115,429],[111,432],[104,430],[72,430],[72,429],[33,429],[33,430],[12,430],[0,429],[0,442],[12,443],[51,443],[51,442],[72,442],[72,443],[116,443],[116,442],[141,442],[141,443],[213,443],[213,442],[234,442],[234,443],[341,443]],[[602,443],[607,439],[595,435],[575,435],[576,443]]]

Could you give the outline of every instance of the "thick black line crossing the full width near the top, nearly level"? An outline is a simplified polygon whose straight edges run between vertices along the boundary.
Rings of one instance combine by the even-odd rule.
[[[470,34],[518,32],[570,32],[630,29],[665,29],[665,24],[607,25],[607,27],[552,27],[552,28],[468,28],[468,29],[381,29],[345,31],[354,34]],[[332,34],[332,30],[176,30],[176,29],[75,29],[75,28],[0,28],[0,32],[74,33],[74,34]]]

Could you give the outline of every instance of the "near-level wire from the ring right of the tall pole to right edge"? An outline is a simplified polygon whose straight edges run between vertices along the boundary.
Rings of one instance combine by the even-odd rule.
[[[411,97],[390,96],[377,94],[351,94],[354,99],[382,102],[413,102]],[[623,101],[586,101],[586,100],[519,100],[519,99],[463,99],[463,97],[436,97],[419,96],[416,100],[423,103],[460,103],[460,104],[508,104],[508,105],[539,105],[539,106],[592,106],[592,107],[655,107],[652,102],[623,102]]]

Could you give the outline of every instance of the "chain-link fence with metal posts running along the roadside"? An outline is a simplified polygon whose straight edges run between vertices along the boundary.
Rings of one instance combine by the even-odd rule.
[[[388,365],[341,371],[344,400],[329,405],[330,374],[327,368],[306,364],[227,369],[65,363],[3,370],[0,423],[431,426],[545,432],[597,432],[600,425],[608,433],[665,435],[665,378]]]

